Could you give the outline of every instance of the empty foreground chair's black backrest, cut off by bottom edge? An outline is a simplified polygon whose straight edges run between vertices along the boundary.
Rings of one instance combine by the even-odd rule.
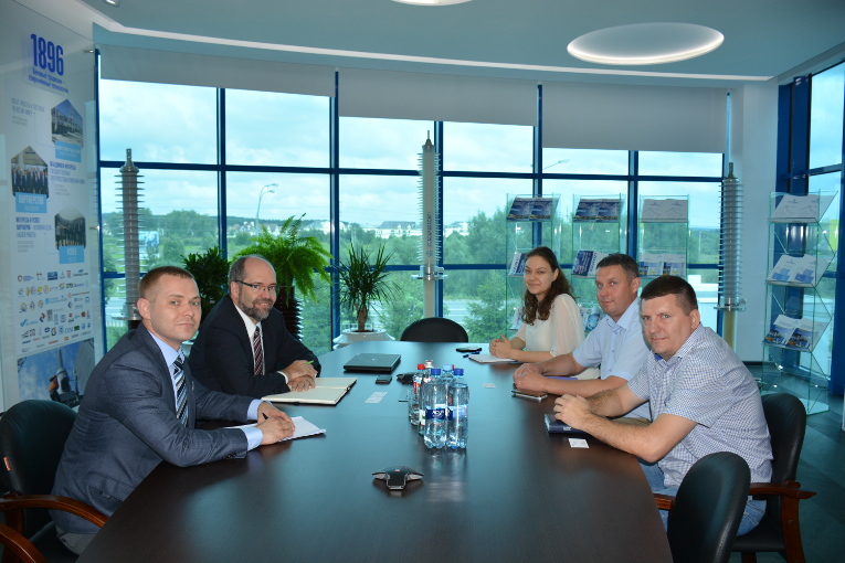
[[[669,514],[666,534],[672,559],[727,562],[750,482],[748,464],[737,454],[719,452],[696,461],[684,476]]]

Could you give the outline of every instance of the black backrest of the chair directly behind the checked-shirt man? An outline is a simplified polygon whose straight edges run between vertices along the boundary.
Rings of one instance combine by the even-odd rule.
[[[772,440],[772,482],[795,480],[801,448],[806,431],[804,404],[789,393],[762,396],[763,414]],[[781,497],[768,499],[765,511],[780,521]]]

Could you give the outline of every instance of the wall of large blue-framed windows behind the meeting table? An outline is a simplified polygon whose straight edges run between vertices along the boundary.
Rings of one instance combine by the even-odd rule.
[[[182,256],[218,244],[231,258],[262,226],[273,233],[285,219],[304,215],[300,234],[317,236],[328,248],[337,233],[341,259],[350,243],[383,244],[392,253],[390,277],[399,290],[392,302],[376,304],[370,323],[399,337],[423,310],[423,284],[412,278],[422,235],[415,171],[423,144],[435,141],[439,124],[342,117],[336,139],[340,169],[334,169],[331,98],[252,91],[226,91],[222,98],[225,107],[218,108],[214,88],[101,82],[102,158],[109,167],[102,173],[107,316],[123,310],[122,204],[114,177],[126,148],[133,148],[134,160],[145,163],[141,272],[181,265]],[[225,135],[219,137],[218,129]],[[577,195],[623,200],[613,236],[620,251],[629,251],[627,216],[636,208],[629,201],[632,185],[641,194],[687,195],[689,263],[718,263],[719,185],[712,179],[721,176],[721,155],[642,152],[637,176],[629,170],[627,151],[542,149],[543,176],[538,176],[532,127],[444,123],[442,131],[442,259],[448,268],[441,284],[442,310],[467,329],[471,340],[489,340],[511,323],[506,206],[509,196],[531,194],[539,179],[545,195],[559,196],[561,229],[554,241],[543,230],[542,243],[554,247],[562,264],[571,264],[573,248],[580,248],[570,220]],[[218,147],[219,138],[225,139],[225,150]],[[594,179],[575,178],[583,174]],[[641,176],[666,178],[643,182]],[[689,181],[696,178],[701,180]],[[335,216],[332,185],[339,201]],[[225,205],[222,233],[220,202]],[[688,274],[705,288],[716,268]],[[585,284],[577,293],[589,302],[594,288],[592,280]],[[303,304],[303,341],[318,353],[328,351],[336,336],[331,307],[327,284],[319,285],[316,301]],[[339,312],[340,328],[350,326],[351,316]],[[123,330],[109,326],[109,346]]]

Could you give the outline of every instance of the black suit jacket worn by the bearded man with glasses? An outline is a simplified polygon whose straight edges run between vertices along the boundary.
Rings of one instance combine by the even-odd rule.
[[[267,373],[255,375],[252,342],[232,298],[226,295],[211,309],[191,347],[188,363],[193,376],[215,391],[261,399],[291,391],[277,370],[296,360],[313,360],[314,369],[320,371],[317,357],[291,336],[276,309],[271,309],[270,316],[261,321],[261,333]]]

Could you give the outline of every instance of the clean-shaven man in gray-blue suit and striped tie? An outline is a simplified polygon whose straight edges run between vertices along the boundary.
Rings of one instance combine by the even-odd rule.
[[[293,435],[291,418],[270,403],[209,391],[179,351],[200,322],[200,295],[182,268],[151,269],[140,282],[141,326],[125,334],[91,374],[65,444],[53,493],[110,516],[163,459],[186,467],[244,457]],[[196,428],[198,418],[261,419],[256,427]],[[52,512],[56,532],[81,553],[97,527]]]

